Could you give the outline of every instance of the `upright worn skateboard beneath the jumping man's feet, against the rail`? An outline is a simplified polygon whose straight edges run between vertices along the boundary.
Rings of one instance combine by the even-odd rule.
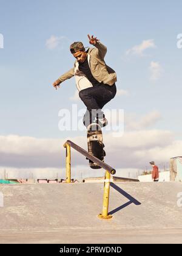
[[[99,124],[92,123],[87,127],[87,144],[89,153],[104,162],[106,152],[104,151],[103,133]],[[89,165],[92,169],[101,169],[91,160],[89,160]]]

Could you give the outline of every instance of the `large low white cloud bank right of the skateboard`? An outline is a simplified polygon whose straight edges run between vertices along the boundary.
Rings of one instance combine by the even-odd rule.
[[[104,136],[106,163],[115,168],[143,168],[149,162],[169,162],[181,155],[182,141],[175,141],[173,133],[165,130],[124,132],[123,137]]]

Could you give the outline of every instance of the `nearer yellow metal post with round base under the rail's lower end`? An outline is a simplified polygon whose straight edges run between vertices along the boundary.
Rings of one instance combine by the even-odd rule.
[[[110,191],[110,172],[106,171],[105,182],[104,182],[103,213],[98,215],[98,218],[100,219],[112,218],[112,215],[108,215],[109,191]]]

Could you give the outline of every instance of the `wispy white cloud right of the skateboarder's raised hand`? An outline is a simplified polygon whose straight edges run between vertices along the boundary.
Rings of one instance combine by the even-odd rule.
[[[126,51],[126,55],[135,54],[141,56],[143,55],[143,52],[149,48],[156,48],[153,39],[144,40],[141,44],[133,46],[131,49]]]

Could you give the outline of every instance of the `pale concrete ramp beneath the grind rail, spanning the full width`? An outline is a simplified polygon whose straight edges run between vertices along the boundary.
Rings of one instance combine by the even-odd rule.
[[[113,187],[103,220],[102,183],[1,185],[0,243],[182,243],[180,182]]]

